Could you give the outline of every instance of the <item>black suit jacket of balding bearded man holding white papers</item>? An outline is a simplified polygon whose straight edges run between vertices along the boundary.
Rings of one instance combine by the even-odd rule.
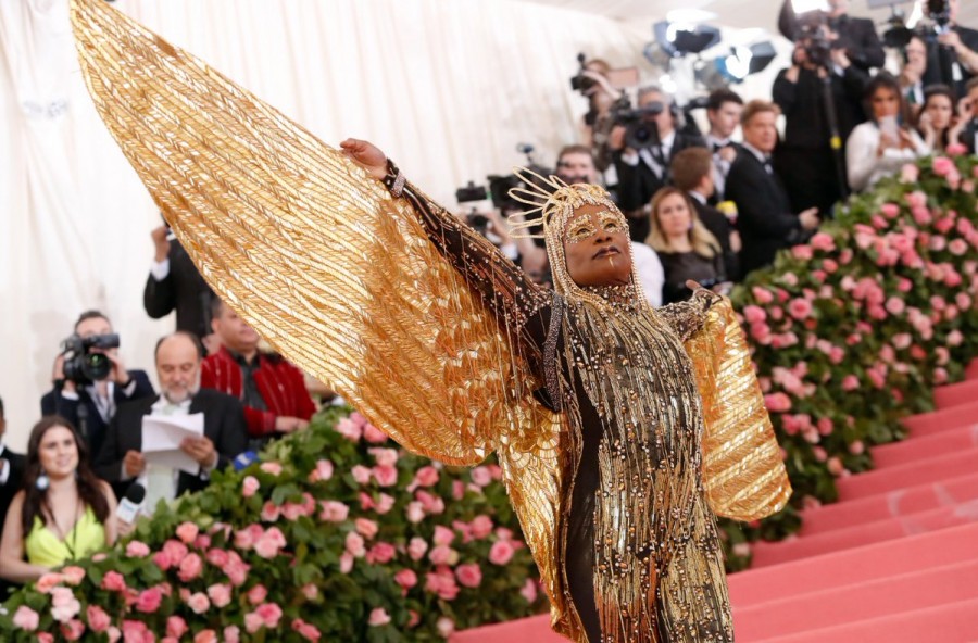
[[[123,458],[128,451],[142,451],[142,417],[149,415],[159,395],[129,402],[118,407],[109,425],[105,442],[95,458],[95,471],[112,483],[115,495],[122,497],[131,480],[122,479]],[[217,451],[217,468],[225,467],[248,447],[248,427],[244,407],[230,395],[201,389],[190,402],[190,413],[204,414],[204,437]],[[180,471],[177,495],[199,491],[208,479]]]

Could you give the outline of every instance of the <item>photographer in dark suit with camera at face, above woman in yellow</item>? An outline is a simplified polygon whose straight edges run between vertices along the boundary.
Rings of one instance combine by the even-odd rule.
[[[41,398],[41,415],[60,415],[77,427],[91,453],[123,402],[155,394],[145,370],[127,370],[118,336],[99,311],[82,313],[54,361],[53,388]]]

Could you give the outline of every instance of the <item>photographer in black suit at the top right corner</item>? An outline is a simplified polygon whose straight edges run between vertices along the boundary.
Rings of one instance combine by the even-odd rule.
[[[978,73],[978,31],[957,24],[960,0],[927,0],[925,12],[935,23],[927,38],[924,85],[951,85],[964,96],[965,84]]]

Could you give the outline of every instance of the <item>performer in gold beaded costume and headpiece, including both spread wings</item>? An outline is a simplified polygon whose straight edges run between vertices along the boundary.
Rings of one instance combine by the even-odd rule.
[[[99,114],[214,291],[405,449],[496,452],[555,631],[732,640],[714,515],[767,516],[790,486],[728,301],[653,311],[607,193],[527,177],[541,290],[375,147],[326,146],[104,2],[72,22]]]

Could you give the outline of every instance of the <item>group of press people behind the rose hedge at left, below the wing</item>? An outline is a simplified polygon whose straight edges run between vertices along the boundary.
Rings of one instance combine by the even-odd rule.
[[[302,430],[323,393],[302,371],[263,350],[261,338],[200,277],[165,226],[153,230],[155,256],[143,303],[151,317],[176,312],[176,330],[154,351],[156,391],[145,370],[129,369],[112,323],[99,311],[79,315],[72,337],[104,371],[55,358],[41,419],[17,454],[2,443],[0,401],[0,600],[10,588],[115,542],[160,501],[203,489],[215,469],[248,462],[268,441]],[[145,451],[147,419],[190,427],[179,454]],[[198,427],[195,432],[192,427]],[[175,466],[176,462],[190,463]],[[138,491],[136,491],[138,489]],[[135,513],[117,509],[135,505]]]

